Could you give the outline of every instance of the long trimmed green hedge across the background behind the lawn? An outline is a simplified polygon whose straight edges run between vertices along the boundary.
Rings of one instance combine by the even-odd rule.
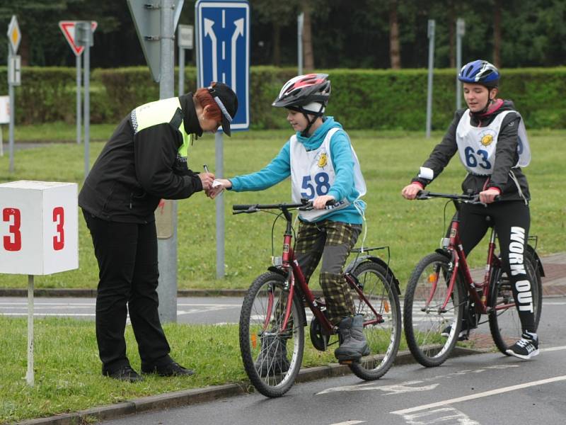
[[[296,69],[252,67],[251,127],[287,128],[285,114],[271,108],[282,84]],[[333,92],[328,115],[346,128],[424,130],[427,71],[424,69],[329,69]],[[455,70],[434,71],[432,128],[444,130],[454,115]],[[566,128],[566,67],[504,69],[500,97],[512,99],[528,128]],[[177,77],[175,72],[175,78]],[[196,70],[185,69],[185,89],[195,90]],[[0,94],[6,94],[6,67],[0,67]],[[175,84],[175,91],[177,86]],[[115,123],[135,106],[158,98],[147,67],[94,69],[91,122]],[[16,123],[75,119],[74,68],[24,67],[16,88]],[[463,100],[462,100],[462,104]]]

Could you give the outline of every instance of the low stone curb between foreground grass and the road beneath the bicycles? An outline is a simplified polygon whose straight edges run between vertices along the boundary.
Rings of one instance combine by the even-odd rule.
[[[455,347],[451,353],[452,357],[470,356],[473,354],[483,354],[487,350],[475,350],[471,348]],[[407,365],[415,363],[415,359],[409,351],[400,351],[395,357],[395,365]],[[347,365],[331,363],[314,368],[301,369],[295,382],[311,382],[323,378],[335,378],[337,376],[352,373]],[[292,391],[292,390],[291,390]],[[18,422],[18,425],[82,425],[90,424],[92,420],[108,421],[118,419],[122,416],[138,414],[161,409],[173,409],[175,407],[190,406],[191,404],[212,402],[216,399],[235,397],[246,393],[254,392],[250,382],[240,382],[238,384],[214,385],[204,388],[193,388],[191,390],[181,390],[166,392],[159,395],[150,395],[139,399],[129,400],[106,406],[92,407],[91,409],[80,410],[79,412],[58,414],[45,418],[30,419]]]

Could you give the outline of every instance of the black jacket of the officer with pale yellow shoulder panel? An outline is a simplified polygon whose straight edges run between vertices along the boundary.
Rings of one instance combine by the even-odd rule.
[[[202,191],[197,173],[178,155],[183,145],[179,127],[187,134],[202,135],[192,94],[179,98],[168,123],[134,135],[131,114],[117,126],[79,193],[79,205],[95,217],[116,222],[146,223],[155,220],[161,198],[183,199]]]

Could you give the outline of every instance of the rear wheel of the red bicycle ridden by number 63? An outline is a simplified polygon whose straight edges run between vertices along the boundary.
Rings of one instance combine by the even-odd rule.
[[[536,267],[536,262],[529,254],[525,254],[525,271],[529,282],[531,282],[531,293],[533,295],[533,307],[535,313],[535,329],[538,328],[538,322],[541,319],[541,310],[543,305],[543,286],[541,275]],[[492,271],[492,279],[490,282],[490,302],[488,307],[495,308],[501,304],[514,303],[513,291],[509,283],[509,279],[503,273],[499,266],[495,266]],[[489,315],[490,331],[497,349],[510,356],[507,349],[516,341],[521,339],[523,329],[519,312],[513,305],[504,310],[492,310]]]

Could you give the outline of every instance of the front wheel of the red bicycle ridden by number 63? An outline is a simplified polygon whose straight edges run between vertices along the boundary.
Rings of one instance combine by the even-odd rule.
[[[451,276],[450,259],[434,253],[425,256],[409,278],[403,306],[405,338],[412,356],[423,366],[444,363],[458,341],[463,282],[456,276],[449,294]]]

